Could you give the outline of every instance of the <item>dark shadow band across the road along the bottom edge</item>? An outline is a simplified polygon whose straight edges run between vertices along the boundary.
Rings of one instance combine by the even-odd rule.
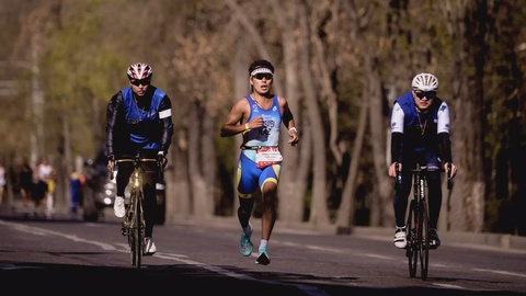
[[[202,266],[187,264],[144,265],[136,267],[85,266],[73,264],[43,264],[1,262],[2,289],[19,295],[524,295],[508,292],[458,291],[415,286],[403,288],[367,288],[353,286],[359,278],[339,278],[341,285],[319,283],[323,280],[306,274],[241,271],[239,267],[218,266],[245,277],[227,276]],[[254,281],[256,280],[256,281]],[[328,280],[328,278],[325,278]],[[332,278],[333,280],[333,278]],[[419,280],[420,281],[420,280]]]

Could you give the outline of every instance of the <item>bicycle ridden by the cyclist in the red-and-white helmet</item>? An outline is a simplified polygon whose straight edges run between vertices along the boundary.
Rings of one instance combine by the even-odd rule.
[[[122,224],[121,232],[128,238],[130,249],[132,265],[140,267],[142,258],[142,243],[145,240],[146,221],[144,216],[142,202],[145,198],[142,192],[142,172],[141,163],[156,162],[159,168],[159,174],[162,175],[163,166],[160,160],[153,158],[140,158],[139,152],[134,159],[118,159],[116,163],[133,162],[134,171],[132,173],[132,189],[129,191],[129,203],[126,207],[126,215]],[[112,169],[111,179],[114,178]]]

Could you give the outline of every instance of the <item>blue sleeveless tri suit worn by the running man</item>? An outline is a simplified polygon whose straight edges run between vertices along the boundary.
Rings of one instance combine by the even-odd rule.
[[[261,109],[250,94],[244,96],[250,104],[250,115],[247,122],[253,117],[263,116],[264,126],[250,129],[243,133],[243,145],[239,156],[237,171],[238,194],[241,198],[251,198],[258,185],[263,189],[265,182],[278,183],[281,164],[268,166],[259,169],[255,166],[255,147],[277,147],[279,143],[279,126],[282,113],[277,95],[272,98],[272,106],[267,110]]]

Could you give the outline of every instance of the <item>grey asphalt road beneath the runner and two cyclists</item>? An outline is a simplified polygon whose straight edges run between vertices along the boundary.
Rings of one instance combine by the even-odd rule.
[[[252,224],[259,236],[259,220]],[[254,263],[258,239],[251,257],[239,254],[236,219],[180,220],[156,227],[158,252],[135,269],[118,228],[112,215],[99,223],[0,216],[2,288],[22,295],[526,293],[526,249],[510,248],[522,240],[502,236],[442,235],[444,244],[432,252],[428,280],[422,281],[409,277],[390,229],[335,235],[334,228],[277,223],[270,243],[272,262],[262,266]]]

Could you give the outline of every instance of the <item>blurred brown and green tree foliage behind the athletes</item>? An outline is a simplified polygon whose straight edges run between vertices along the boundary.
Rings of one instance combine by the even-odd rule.
[[[10,64],[10,69],[0,76],[0,80],[13,77],[18,81],[15,95],[1,96],[0,124],[10,128],[0,130],[4,151],[0,160],[31,152],[30,137],[36,128],[32,101],[35,89],[31,87],[34,81],[39,82],[45,99],[41,153],[69,151],[84,158],[95,156],[104,141],[107,101],[127,86],[127,66],[145,61],[153,67],[155,84],[172,99],[178,130],[173,144],[178,151],[198,150],[203,156],[203,149],[214,149],[217,172],[211,174],[218,182],[209,194],[215,196],[216,204],[232,206],[235,197],[225,195],[235,192],[225,186],[232,182],[237,169],[237,153],[232,153],[237,144],[218,137],[218,130],[240,90],[245,91],[240,86],[247,84],[247,77],[239,73],[245,75],[253,59],[271,59],[278,69],[275,89],[298,98],[295,102],[298,123],[312,127],[307,90],[301,81],[294,80],[304,69],[291,65],[297,62],[295,58],[299,58],[301,50],[307,50],[310,62],[307,68],[317,98],[316,113],[323,127],[323,135],[316,136],[325,143],[334,140],[339,149],[327,149],[324,155],[328,187],[324,198],[333,213],[340,204],[352,161],[359,161],[355,195],[362,198],[358,201],[361,207],[377,206],[371,204],[371,195],[381,178],[371,167],[375,159],[386,156],[374,155],[370,126],[359,159],[350,159],[361,125],[361,106],[366,102],[363,98],[371,89],[371,67],[364,60],[376,62],[382,88],[382,110],[373,111],[369,116],[388,121],[390,103],[408,90],[414,73],[431,71],[441,80],[439,96],[450,102],[454,126],[464,123],[466,111],[459,109],[460,103],[477,99],[465,98],[466,93],[473,92],[459,90],[468,88],[468,83],[471,90],[476,83],[476,66],[483,68],[480,83],[474,84],[482,96],[482,123],[469,124],[483,135],[480,145],[483,147],[478,149],[485,151],[483,182],[488,183],[488,190],[483,200],[489,204],[482,207],[489,215],[484,218],[487,221],[495,221],[495,216],[501,215],[494,208],[498,203],[492,202],[496,195],[493,183],[498,156],[511,147],[524,151],[526,146],[525,100],[522,99],[525,93],[522,86],[526,70],[526,8],[517,0],[2,2],[0,41],[4,46],[0,53],[10,56],[10,62],[24,61],[25,66]],[[301,13],[309,22],[310,32],[301,32],[298,25]],[[482,20],[480,15],[488,18]],[[290,30],[290,39],[284,39],[283,36],[287,36],[284,30]],[[467,32],[480,33],[482,37],[472,38]],[[309,37],[302,41],[298,36]],[[466,50],[469,47],[473,50]],[[290,59],[285,49],[297,56]],[[482,54],[476,56],[473,53]],[[474,58],[483,65],[472,61]],[[39,71],[32,71],[30,66],[36,66]],[[295,83],[299,86],[297,90],[293,88],[294,93],[286,93]],[[334,106],[335,115],[332,114]],[[205,118],[215,123],[215,130],[208,130]],[[193,144],[188,136],[192,133],[206,135],[206,138]],[[312,143],[302,145],[310,147]],[[300,153],[307,149],[298,150]],[[308,157],[313,153],[316,151]],[[454,153],[474,152],[457,150]],[[199,168],[206,164],[202,157],[196,161],[197,166],[192,164]],[[188,163],[178,166],[191,167]],[[201,173],[210,172],[192,171],[188,183],[198,174],[202,177]],[[302,202],[307,205],[306,212],[310,213],[310,201],[316,197],[311,189],[315,181],[311,172],[306,175],[308,196]],[[516,185],[514,182],[510,181],[511,187]],[[193,198],[190,191],[188,198]],[[218,207],[216,213],[235,212]]]

